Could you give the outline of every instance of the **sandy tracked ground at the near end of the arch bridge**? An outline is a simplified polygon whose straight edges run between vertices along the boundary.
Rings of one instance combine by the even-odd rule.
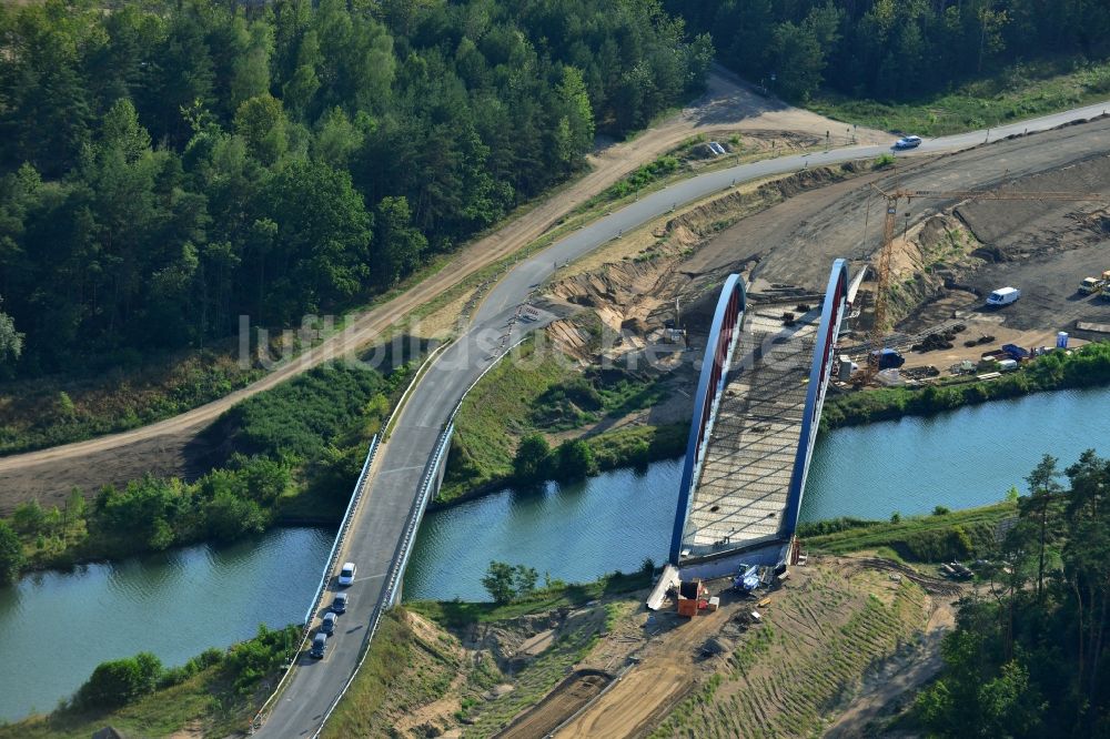
[[[747,630],[737,627],[736,617],[750,610],[755,604],[727,591],[727,580],[709,583],[712,593],[719,594],[722,607],[715,614],[694,619],[680,619],[669,609],[652,616],[645,625],[644,644],[627,659],[629,667],[616,682],[555,733],[556,737],[639,737],[657,728],[676,706],[692,691],[698,690],[713,675],[725,679],[715,691],[712,702],[698,716],[684,716],[677,736],[749,736],[747,729],[759,726],[765,732],[775,733],[789,726],[800,726],[798,717],[820,720],[836,696],[845,687],[834,680],[860,679],[858,697],[842,709],[837,722],[838,736],[857,736],[854,727],[866,726],[878,711],[905,690],[919,686],[935,674],[939,665],[937,648],[945,630],[952,625],[950,601],[960,586],[915,573],[904,565],[877,558],[817,558],[809,567],[796,567],[784,589],[770,594],[770,603],[763,608],[765,625]],[[899,578],[909,577],[927,594],[907,595]],[[896,601],[911,608],[908,620],[891,625],[882,636],[872,630],[872,621],[862,627],[849,627],[851,618],[860,613],[871,597],[885,605]],[[907,599],[908,598],[908,599]],[[920,608],[919,617],[912,609]],[[636,616],[643,622],[646,616]],[[919,620],[918,620],[919,619]],[[919,626],[915,627],[914,622]],[[774,644],[755,661],[738,666],[729,650],[741,647],[756,630],[773,628]],[[842,631],[849,628],[849,631]],[[905,648],[906,639],[921,629],[916,648]],[[707,658],[703,647],[718,640],[725,648],[720,657]],[[591,665],[606,659],[603,640],[591,655]],[[902,645],[902,647],[899,647]],[[835,657],[841,649],[866,650],[871,659],[852,661],[859,668],[879,665],[870,678],[851,675],[844,660]],[[876,661],[877,660],[877,661]],[[828,675],[824,672],[828,668]],[[795,694],[791,681],[808,681],[808,690]],[[824,692],[823,692],[824,691]],[[849,690],[850,694],[850,690]],[[826,695],[826,698],[821,698]],[[807,713],[798,713],[799,706],[810,706]],[[683,703],[686,706],[686,703]],[[743,712],[749,712],[748,722]],[[760,720],[750,722],[750,717]],[[686,719],[690,719],[686,722]],[[708,721],[709,726],[704,722]],[[736,722],[734,722],[736,721]],[[787,732],[789,733],[789,732]],[[786,736],[786,735],[784,735]]]

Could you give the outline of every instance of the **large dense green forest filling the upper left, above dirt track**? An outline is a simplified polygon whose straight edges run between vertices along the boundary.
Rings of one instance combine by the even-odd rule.
[[[355,305],[712,53],[659,0],[0,6],[0,372]]]

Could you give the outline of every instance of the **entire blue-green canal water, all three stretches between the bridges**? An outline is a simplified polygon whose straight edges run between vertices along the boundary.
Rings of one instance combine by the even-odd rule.
[[[1108,455],[1110,392],[1067,391],[821,436],[803,520],[888,518],[1000,500],[1045,453]],[[428,514],[405,599],[484,599],[492,559],[567,581],[666,557],[680,463],[574,485],[505,489]],[[165,665],[304,616],[331,547],[326,529],[275,529],[231,547],[198,546],[0,588],[0,720],[51,710],[107,659],[147,650]]]

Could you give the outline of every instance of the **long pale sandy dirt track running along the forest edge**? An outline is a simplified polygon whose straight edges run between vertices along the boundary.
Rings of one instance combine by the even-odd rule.
[[[474,272],[531,243],[567,212],[635,170],[697,133],[734,130],[796,130],[817,135],[840,124],[763,98],[720,69],[708,79],[707,93],[640,133],[606,146],[589,158],[591,171],[498,231],[465,247],[451,264],[396,298],[366,312],[351,331],[323,342],[299,361],[263,379],[167,421],[134,431],[0,458],[0,514],[20,502],[39,498],[43,505],[60,503],[73,487],[87,493],[108,483],[122,483],[144,473],[189,475],[202,462],[193,454],[194,438],[235,403],[270,389],[330,358],[371,344],[389,326],[417,306],[460,284]],[[887,141],[889,134],[859,130],[859,141]]]

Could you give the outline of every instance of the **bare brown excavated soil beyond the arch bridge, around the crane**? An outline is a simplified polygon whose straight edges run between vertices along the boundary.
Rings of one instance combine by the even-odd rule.
[[[902,164],[807,192],[723,231],[697,251],[683,271],[719,279],[756,261],[755,288],[771,283],[823,291],[833,260],[847,257],[858,269],[878,249],[885,191],[979,190],[1002,192],[1094,192],[1101,203],[979,201],[965,198],[902,201],[898,229],[910,240],[925,222],[946,209],[977,237],[968,259],[952,269],[957,284],[979,291],[1012,284],[1022,300],[985,321],[1012,331],[1067,330],[1078,320],[1106,323],[1110,302],[1079,298],[1076,287],[1088,274],[1110,269],[1110,120],[1101,119],[1056,131],[1030,134],[957,154]],[[908,219],[906,217],[908,214]],[[910,275],[900,275],[908,277]],[[942,286],[942,282],[938,286]],[[950,291],[949,291],[950,292]],[[944,294],[942,292],[939,294]],[[936,297],[922,293],[919,297]],[[951,311],[973,310],[980,297],[957,294]],[[909,313],[916,313],[915,307]]]

